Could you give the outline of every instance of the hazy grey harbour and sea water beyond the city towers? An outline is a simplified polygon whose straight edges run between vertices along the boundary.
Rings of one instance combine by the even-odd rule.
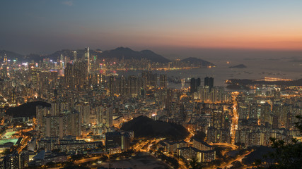
[[[210,61],[208,59],[208,61]],[[261,79],[263,77],[281,77],[286,79],[297,80],[302,78],[300,63],[293,63],[286,58],[213,58],[212,63],[216,64],[215,68],[195,68],[191,70],[156,70],[153,73],[167,74],[168,77],[214,77],[214,85],[226,86],[224,80],[238,79]],[[229,63],[227,63],[229,62]],[[229,68],[231,65],[244,64],[248,68]],[[141,75],[141,70],[117,71],[119,75]],[[180,88],[181,84],[169,84],[169,87]]]

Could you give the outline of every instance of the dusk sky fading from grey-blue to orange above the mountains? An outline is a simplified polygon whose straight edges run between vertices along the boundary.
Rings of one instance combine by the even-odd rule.
[[[0,49],[302,50],[302,1],[0,2]]]

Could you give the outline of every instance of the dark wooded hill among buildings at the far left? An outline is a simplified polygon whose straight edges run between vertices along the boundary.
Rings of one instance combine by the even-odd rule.
[[[21,117],[35,117],[35,107],[43,106],[50,107],[51,105],[44,101],[33,101],[30,103],[22,104],[21,106],[11,107],[6,110],[6,115],[11,115],[13,118],[21,118]]]

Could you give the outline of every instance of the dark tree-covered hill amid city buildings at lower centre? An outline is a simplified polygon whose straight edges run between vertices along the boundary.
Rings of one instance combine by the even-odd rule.
[[[134,131],[134,137],[166,137],[172,140],[185,139],[189,134],[182,125],[152,120],[143,115],[124,123],[121,129]]]

